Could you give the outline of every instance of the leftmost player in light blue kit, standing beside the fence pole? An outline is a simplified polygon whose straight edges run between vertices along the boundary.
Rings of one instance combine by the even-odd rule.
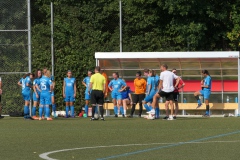
[[[30,117],[30,110],[29,110],[29,104],[31,99],[31,87],[32,87],[31,78],[33,78],[33,74],[27,73],[18,82],[18,85],[22,87],[22,96],[25,101],[23,112],[24,112],[24,119],[26,120],[32,120],[32,117]]]

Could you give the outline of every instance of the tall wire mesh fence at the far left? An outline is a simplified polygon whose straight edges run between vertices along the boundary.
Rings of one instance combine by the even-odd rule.
[[[20,77],[30,71],[28,0],[0,1],[0,77],[3,114],[22,111]]]

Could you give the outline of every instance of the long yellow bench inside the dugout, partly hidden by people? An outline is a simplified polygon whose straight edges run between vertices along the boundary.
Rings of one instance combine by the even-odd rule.
[[[185,115],[187,110],[205,110],[205,104],[202,107],[196,109],[197,103],[179,103],[179,110]],[[210,110],[234,110],[235,115],[238,112],[238,103],[210,103]],[[160,110],[165,110],[165,103],[159,103]],[[110,115],[110,110],[114,109],[113,103],[105,103],[104,109],[106,110],[106,115]],[[131,105],[128,106],[131,109]],[[139,109],[139,105],[136,105],[136,110]],[[143,107],[145,110],[145,108]]]

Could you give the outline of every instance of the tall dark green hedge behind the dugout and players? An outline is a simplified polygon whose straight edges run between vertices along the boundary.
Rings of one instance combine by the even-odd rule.
[[[239,46],[239,2],[122,0],[123,51],[214,51]],[[32,2],[33,68],[51,68],[50,0]],[[95,65],[97,51],[119,51],[119,1],[55,0],[56,102],[63,106],[67,70],[77,78],[77,105],[84,104],[81,81]],[[137,58],[137,57],[136,57]]]

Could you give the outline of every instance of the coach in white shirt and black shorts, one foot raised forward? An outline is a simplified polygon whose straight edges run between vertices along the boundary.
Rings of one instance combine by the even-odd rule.
[[[171,106],[171,115],[169,116],[168,103],[165,105],[166,117],[165,120],[173,120],[173,91],[177,88],[180,78],[174,73],[167,70],[168,66],[166,64],[161,65],[160,83],[158,86],[158,93],[154,96],[152,107],[155,108],[156,103],[160,97],[165,97],[166,101],[169,101]],[[173,86],[173,80],[176,79],[176,84]],[[155,114],[155,109],[152,109],[150,114]]]

